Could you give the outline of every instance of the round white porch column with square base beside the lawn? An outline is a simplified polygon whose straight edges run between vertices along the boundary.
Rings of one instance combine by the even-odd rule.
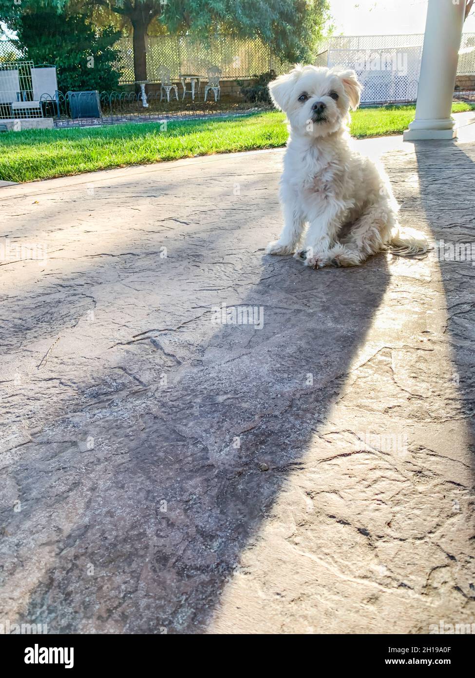
[[[415,119],[404,140],[453,139],[451,119],[466,0],[429,0]]]

